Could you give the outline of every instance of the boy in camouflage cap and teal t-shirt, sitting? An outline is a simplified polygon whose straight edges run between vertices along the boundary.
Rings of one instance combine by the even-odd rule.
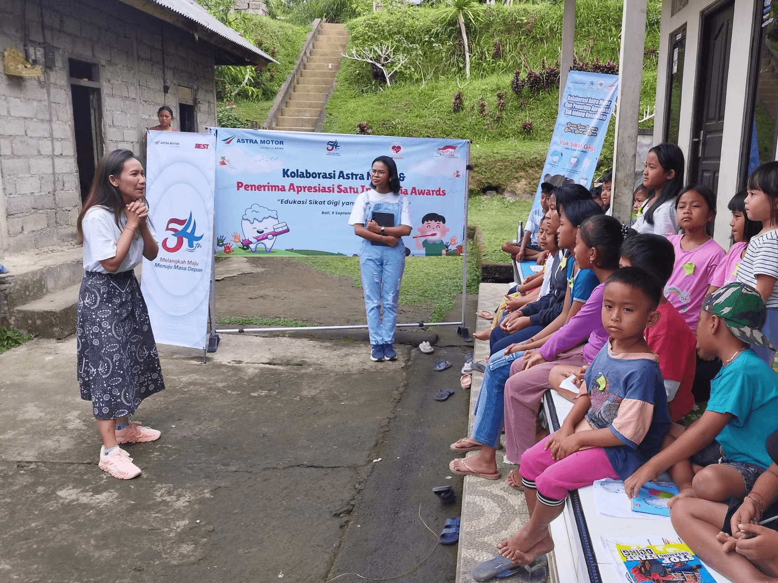
[[[697,345],[724,366],[710,383],[702,417],[685,430],[673,425],[662,451],[625,481],[629,497],[668,469],[678,497],[724,501],[752,489],[770,464],[762,443],[778,419],[778,375],[749,349],[769,346],[764,321],[765,302],[749,285],[727,284],[706,296]]]

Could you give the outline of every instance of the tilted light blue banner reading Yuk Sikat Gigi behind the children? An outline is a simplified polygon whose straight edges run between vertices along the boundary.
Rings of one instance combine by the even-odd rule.
[[[618,89],[619,75],[568,73],[533,208],[540,206],[541,183],[591,186]]]

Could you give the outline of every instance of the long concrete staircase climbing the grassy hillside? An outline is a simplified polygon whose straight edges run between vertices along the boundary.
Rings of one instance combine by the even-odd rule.
[[[345,25],[322,23],[305,67],[272,129],[316,131],[324,106],[335,88],[340,54],[349,41]]]

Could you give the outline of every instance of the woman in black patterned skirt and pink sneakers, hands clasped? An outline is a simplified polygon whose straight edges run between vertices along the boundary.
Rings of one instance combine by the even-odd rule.
[[[103,446],[100,470],[141,473],[121,443],[153,442],[159,431],[129,421],[145,397],[165,388],[149,312],[133,268],[158,251],[145,206],[145,176],[129,150],[100,160],[77,222],[84,278],[76,326],[81,398],[92,401]]]

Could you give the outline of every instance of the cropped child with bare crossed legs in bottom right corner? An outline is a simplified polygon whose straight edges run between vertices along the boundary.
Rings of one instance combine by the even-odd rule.
[[[773,463],[738,507],[681,498],[670,508],[675,532],[734,583],[778,581],[778,431],[767,438],[766,452]]]

